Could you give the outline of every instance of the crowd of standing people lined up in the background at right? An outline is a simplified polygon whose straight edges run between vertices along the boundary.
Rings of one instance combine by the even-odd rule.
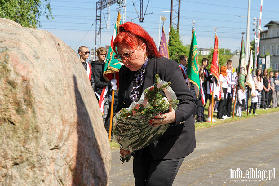
[[[245,90],[240,88],[238,85],[238,76],[236,68],[234,70],[232,66],[232,60],[228,60],[226,66],[221,66],[219,80],[212,76],[212,74],[206,69],[209,64],[207,58],[201,60],[202,65],[198,65],[200,81],[202,89],[198,97],[196,96],[193,84],[187,78],[187,61],[188,58],[185,55],[180,56],[179,67],[182,71],[183,77],[192,92],[193,97],[196,99],[196,110],[193,113],[193,117],[196,118],[195,123],[201,122],[216,122],[215,118],[211,118],[212,104],[214,112],[217,113],[217,119],[225,120],[232,117],[233,101],[237,99],[235,113],[236,116],[242,117],[242,111],[247,111],[247,101],[250,94],[247,95],[248,86],[245,84]],[[262,108],[277,108],[278,104],[278,91],[279,81],[278,71],[270,71],[268,69],[262,70],[257,69],[256,75],[253,77],[255,83],[255,91],[251,94],[251,106],[249,114],[254,115],[257,109]],[[236,90],[237,88],[237,90]],[[212,91],[213,91],[213,103],[212,103]],[[208,106],[208,117],[204,117],[204,108],[209,100]]]

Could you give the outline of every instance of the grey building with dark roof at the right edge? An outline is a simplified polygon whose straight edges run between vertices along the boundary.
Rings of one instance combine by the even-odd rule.
[[[279,21],[270,21],[264,27],[268,30],[261,32],[259,56],[270,55],[270,67],[274,70],[279,69]]]

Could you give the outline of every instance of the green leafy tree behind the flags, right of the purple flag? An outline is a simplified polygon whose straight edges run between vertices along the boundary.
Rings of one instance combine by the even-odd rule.
[[[190,45],[183,45],[180,40],[180,35],[178,29],[170,26],[170,40],[168,43],[170,59],[179,63],[179,58],[181,55],[189,56]]]

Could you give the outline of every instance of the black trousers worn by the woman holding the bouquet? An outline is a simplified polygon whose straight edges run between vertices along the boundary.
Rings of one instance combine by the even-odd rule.
[[[148,147],[143,149],[139,160],[134,158],[135,186],[171,186],[184,160],[153,160]]]

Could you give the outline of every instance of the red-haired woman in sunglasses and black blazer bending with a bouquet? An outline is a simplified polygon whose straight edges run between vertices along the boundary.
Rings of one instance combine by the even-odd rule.
[[[136,186],[172,185],[184,157],[196,147],[193,112],[195,100],[183,78],[179,65],[161,57],[150,35],[138,24],[119,26],[114,39],[114,56],[123,65],[119,71],[119,104],[116,112],[138,101],[142,91],[154,84],[155,74],[171,82],[179,106],[176,110],[150,120],[153,126],[170,124],[154,143],[134,151],[133,170]],[[121,154],[130,152],[120,149]]]

